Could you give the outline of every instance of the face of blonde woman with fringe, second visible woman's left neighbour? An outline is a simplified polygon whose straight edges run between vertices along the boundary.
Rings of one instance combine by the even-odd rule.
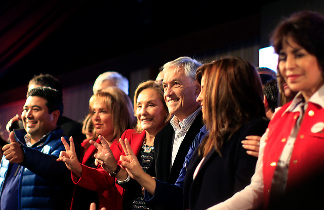
[[[93,101],[91,110],[92,122],[96,128],[96,133],[105,137],[107,141],[113,140],[114,126],[107,106],[103,102],[96,100]]]

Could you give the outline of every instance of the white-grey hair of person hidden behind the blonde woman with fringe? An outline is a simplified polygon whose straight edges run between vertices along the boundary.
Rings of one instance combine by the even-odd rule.
[[[123,75],[119,74],[118,72],[105,72],[100,74],[97,77],[92,88],[94,93],[96,92],[98,85],[101,85],[101,83],[105,80],[112,80],[116,87],[123,90],[128,95],[128,89],[129,89],[128,79]]]

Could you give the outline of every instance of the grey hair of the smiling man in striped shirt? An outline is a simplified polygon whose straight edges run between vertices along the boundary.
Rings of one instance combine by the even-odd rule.
[[[180,67],[180,69],[184,70],[186,76],[196,80],[196,71],[200,66],[203,66],[203,64],[195,59],[191,59],[189,57],[180,57],[174,61],[166,63],[163,66],[163,71],[170,67],[176,67],[176,69]]]

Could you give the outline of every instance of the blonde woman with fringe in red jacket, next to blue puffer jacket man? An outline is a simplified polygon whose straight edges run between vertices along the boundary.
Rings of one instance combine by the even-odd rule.
[[[135,125],[131,99],[120,89],[109,87],[94,94],[90,98],[89,107],[95,133],[104,137],[114,152],[115,160],[118,160],[120,149],[117,139],[126,129]],[[62,141],[65,142],[64,139]],[[72,181],[76,184],[71,209],[89,209],[90,203],[95,202],[100,208],[120,210],[123,188],[116,186],[115,179],[101,166],[95,165],[94,154],[97,153],[97,148],[89,141],[90,139],[86,139],[82,143],[82,164],[74,158],[74,147],[68,148],[66,145],[66,152],[60,155],[59,160],[65,162],[71,170]],[[100,139],[96,142],[100,142]]]

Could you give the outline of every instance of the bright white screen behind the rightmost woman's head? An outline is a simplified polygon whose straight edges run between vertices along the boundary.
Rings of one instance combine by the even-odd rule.
[[[259,49],[259,67],[267,67],[277,72],[278,55],[274,53],[273,46]]]

